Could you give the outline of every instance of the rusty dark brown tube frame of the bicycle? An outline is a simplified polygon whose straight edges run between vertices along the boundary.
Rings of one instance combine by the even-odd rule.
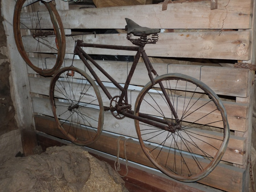
[[[94,61],[84,50],[82,50],[81,47],[93,47],[93,48],[104,48],[104,49],[117,49],[117,50],[127,50],[127,51],[137,51],[132,67],[130,69],[130,72],[127,76],[126,82],[124,87],[122,87],[121,85],[119,85],[119,83],[113,79],[113,77],[111,77],[98,63],[96,63],[96,61]],[[77,54],[80,59],[83,61],[84,65],[87,67],[87,69],[90,71],[90,73],[92,74],[92,76],[94,77],[94,79],[96,80],[96,82],[98,83],[98,85],[102,88],[103,92],[106,94],[106,96],[108,97],[109,100],[111,100],[113,98],[113,96],[111,96],[111,94],[108,92],[107,88],[104,86],[104,84],[101,82],[101,80],[99,79],[99,77],[96,75],[95,71],[92,69],[92,67],[90,66],[90,64],[86,61],[86,59],[88,59],[98,70],[100,70],[100,72],[102,72],[120,91],[121,91],[121,95],[119,97],[118,103],[122,102],[123,99],[125,100],[125,106],[121,107],[121,108],[128,108],[129,110],[127,111],[123,111],[121,112],[122,115],[132,118],[132,119],[137,119],[141,122],[144,123],[148,123],[152,126],[157,126],[160,129],[164,129],[164,130],[168,130],[171,132],[174,132],[177,128],[175,128],[175,125],[168,125],[160,123],[162,119],[158,118],[158,117],[152,117],[150,115],[146,115],[143,113],[139,113],[139,116],[134,115],[134,111],[131,110],[131,105],[128,104],[128,96],[127,96],[127,89],[129,86],[129,83],[131,81],[131,78],[133,76],[133,73],[135,71],[135,68],[137,66],[137,63],[139,61],[140,56],[143,57],[144,63],[146,65],[146,69],[148,71],[148,76],[150,78],[150,81],[152,82],[152,84],[155,84],[154,81],[154,77],[152,75],[152,73],[157,77],[158,74],[156,73],[156,71],[153,69],[151,62],[148,59],[148,56],[145,53],[144,50],[144,46],[116,46],[116,45],[103,45],[103,44],[89,44],[89,43],[83,43],[82,40],[77,40],[76,45],[75,45],[75,49],[74,49],[74,53]],[[166,97],[169,107],[172,110],[172,113],[176,119],[176,122],[179,122],[178,116],[174,110],[174,107],[172,106],[170,99],[168,97],[168,94],[166,93],[164,86],[162,84],[160,84],[160,88],[164,94],[164,96]],[[106,108],[105,110],[109,110],[110,108]],[[155,121],[146,119],[146,118],[150,118],[150,119],[154,119]],[[159,122],[156,122],[159,121]],[[176,124],[177,124],[176,123]]]

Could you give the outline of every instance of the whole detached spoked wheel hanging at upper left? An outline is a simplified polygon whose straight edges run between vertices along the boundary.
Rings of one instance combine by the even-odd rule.
[[[53,75],[63,62],[65,56],[65,33],[61,18],[52,2],[45,3],[48,14],[36,11],[39,2],[18,0],[13,15],[13,32],[18,51],[24,61],[38,74]],[[30,4],[30,5],[29,5]],[[20,20],[20,14],[24,17]],[[49,24],[45,24],[45,22]],[[57,54],[57,58],[56,55]],[[33,58],[32,58],[33,57]],[[53,63],[49,57],[56,58]]]

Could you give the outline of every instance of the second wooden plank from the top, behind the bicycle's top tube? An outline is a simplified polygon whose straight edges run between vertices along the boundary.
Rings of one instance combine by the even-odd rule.
[[[160,33],[156,44],[148,44],[145,50],[148,56],[155,57],[192,57],[212,59],[249,60],[251,42],[250,31],[226,31],[222,32],[185,32],[185,33]],[[126,34],[97,34],[85,36],[66,37],[66,53],[73,53],[75,40],[83,39],[86,43],[125,45],[132,46],[126,39]],[[38,42],[33,42],[32,36],[22,38],[24,48],[28,52],[34,52]],[[48,38],[50,45],[54,47],[55,37]],[[42,52],[53,53],[55,49],[40,46]],[[102,55],[135,55],[135,51],[123,51],[114,49],[83,48],[88,54]]]

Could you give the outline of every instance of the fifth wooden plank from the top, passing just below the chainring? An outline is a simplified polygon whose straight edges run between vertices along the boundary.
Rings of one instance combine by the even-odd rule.
[[[34,112],[44,114],[44,115],[48,115],[48,116],[53,116],[52,112],[51,112],[51,106],[49,104],[49,100],[42,99],[42,98],[33,98],[32,103],[33,103]],[[65,105],[61,102],[56,102],[56,105],[60,105],[60,104],[62,106]],[[80,110],[82,110],[82,109],[80,109]],[[64,112],[65,112],[65,110],[64,110]],[[59,111],[58,114],[62,114],[64,112]],[[98,118],[96,118],[97,114],[98,114],[98,110],[95,110],[95,109],[92,109],[92,108],[85,108],[81,112],[83,114],[87,114],[87,113],[90,114],[90,117],[92,119],[98,119]],[[68,119],[69,115],[66,117],[66,119]],[[63,116],[65,116],[65,114],[63,114],[61,117],[63,117]],[[74,117],[73,117],[72,121],[77,122]],[[84,123],[86,123],[86,125],[92,125],[93,126],[94,121],[90,121],[90,119],[88,119],[88,121],[89,122],[84,122]],[[87,124],[87,123],[89,123],[89,124]],[[113,116],[110,112],[105,112],[104,113],[103,130],[113,132],[113,133],[117,133],[117,134],[120,134],[120,135],[126,135],[127,137],[137,138],[137,133],[135,131],[133,119],[125,118],[122,121],[120,121],[120,120],[117,120],[117,119],[113,118]],[[210,134],[209,138],[210,137],[214,137],[214,138],[219,137],[218,134],[214,134],[212,132],[208,133],[207,131],[202,133],[202,131],[200,131],[200,130],[199,131],[194,130],[192,132],[194,132],[195,134],[198,134],[198,135]],[[159,142],[159,141],[157,141],[158,139],[161,139],[161,138],[156,137],[155,142]],[[202,140],[205,140],[205,138],[202,139]],[[199,142],[201,142],[201,140]],[[166,145],[168,145],[168,141],[166,141]],[[214,140],[212,145],[213,146],[216,145],[216,147],[217,147],[218,143],[216,142],[216,140]],[[202,143],[200,144],[200,146],[203,147]],[[205,146],[205,147],[208,147],[208,146]],[[246,138],[231,136],[230,141],[228,143],[228,148],[227,148],[222,160],[232,162],[232,163],[236,163],[236,164],[241,164],[241,165],[244,164],[244,162],[245,162],[245,155],[244,155],[245,154],[245,152],[244,152],[245,147],[246,147]],[[214,153],[214,151],[212,151],[212,152]],[[200,152],[198,152],[198,153],[200,153]]]

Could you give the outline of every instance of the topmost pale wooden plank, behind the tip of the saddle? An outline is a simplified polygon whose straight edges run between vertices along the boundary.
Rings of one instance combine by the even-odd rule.
[[[104,7],[59,11],[64,28],[123,29],[124,18],[130,18],[150,28],[162,29],[249,29],[251,28],[252,0],[218,0],[218,9],[210,10],[210,2],[168,4],[162,11],[161,4],[125,7]],[[226,6],[226,7],[225,7]],[[52,26],[49,13],[38,12],[41,27]],[[224,20],[224,24],[223,24]],[[30,26],[30,16],[23,13],[21,22]]]

